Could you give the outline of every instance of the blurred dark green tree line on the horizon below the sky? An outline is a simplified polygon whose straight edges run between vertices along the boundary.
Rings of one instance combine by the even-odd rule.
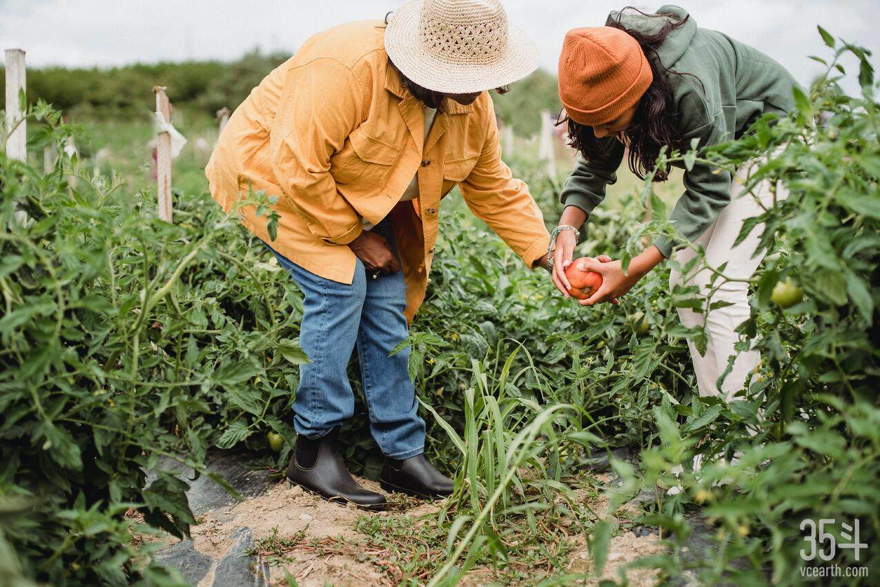
[[[253,50],[235,62],[160,62],[114,68],[32,68],[27,71],[27,99],[44,99],[75,118],[102,116],[135,118],[155,108],[152,88],[168,87],[175,108],[213,115],[227,106],[234,109],[269,71],[290,57],[264,55]],[[0,68],[0,87],[4,84]],[[536,71],[495,97],[495,111],[520,136],[539,129],[538,113],[559,111],[556,77]]]

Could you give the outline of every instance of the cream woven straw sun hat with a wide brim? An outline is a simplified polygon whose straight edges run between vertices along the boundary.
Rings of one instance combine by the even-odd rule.
[[[434,92],[483,92],[538,68],[538,48],[508,23],[499,0],[411,0],[392,13],[385,50],[403,75]]]

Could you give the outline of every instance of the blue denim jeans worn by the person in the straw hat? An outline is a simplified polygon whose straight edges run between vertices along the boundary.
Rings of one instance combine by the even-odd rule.
[[[378,224],[373,231],[394,246],[389,223]],[[408,334],[403,274],[398,271],[372,279],[358,259],[355,278],[348,285],[319,277],[269,248],[304,296],[299,342],[312,363],[299,368],[293,402],[297,434],[322,437],[355,414],[347,368],[357,346],[373,438],[385,456],[393,459],[421,454],[425,422],[417,413],[415,388],[407,371],[409,349],[390,356]]]

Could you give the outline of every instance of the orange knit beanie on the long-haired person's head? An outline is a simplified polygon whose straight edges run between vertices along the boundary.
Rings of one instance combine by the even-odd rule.
[[[634,106],[653,81],[638,41],[611,26],[576,28],[559,56],[559,97],[568,117],[597,126]]]

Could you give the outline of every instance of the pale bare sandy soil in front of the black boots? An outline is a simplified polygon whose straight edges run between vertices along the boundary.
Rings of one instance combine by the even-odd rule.
[[[357,481],[371,490],[380,490],[374,481],[360,478]],[[192,528],[194,547],[202,554],[221,558],[233,546],[233,534],[239,528],[249,528],[254,545],[261,539],[273,536],[288,539],[278,556],[267,552],[271,548],[267,549],[266,542],[260,549],[260,554],[270,563],[270,576],[266,578],[272,585],[287,585],[284,570],[302,587],[324,587],[327,584],[339,587],[397,585],[403,581],[402,571],[392,562],[393,557],[387,556],[390,553],[385,547],[371,544],[370,536],[357,531],[357,520],[364,516],[410,517],[416,525],[433,524],[433,515],[440,510],[440,506],[438,503],[419,502],[398,495],[393,495],[391,499],[391,510],[370,512],[352,505],[328,503],[282,481],[269,486],[257,497],[206,514]],[[583,495],[583,499],[591,499],[590,507],[595,511],[603,512],[606,507],[604,497]],[[273,541],[270,540],[271,544]],[[592,561],[586,538],[573,534],[568,546],[568,572],[589,573]],[[621,532],[611,540],[603,578],[619,580],[618,571],[628,561],[657,554],[661,550],[653,534],[637,537],[633,532]],[[535,572],[542,574],[544,571],[535,569]],[[427,582],[429,577],[423,578]],[[656,571],[629,569],[627,578],[629,584],[635,587],[653,586],[656,584]],[[209,573],[209,576],[202,578],[198,587],[208,587],[212,582],[213,576]],[[499,583],[491,567],[478,566],[471,569],[459,584],[476,587]],[[587,579],[578,584],[595,585],[598,580]]]

